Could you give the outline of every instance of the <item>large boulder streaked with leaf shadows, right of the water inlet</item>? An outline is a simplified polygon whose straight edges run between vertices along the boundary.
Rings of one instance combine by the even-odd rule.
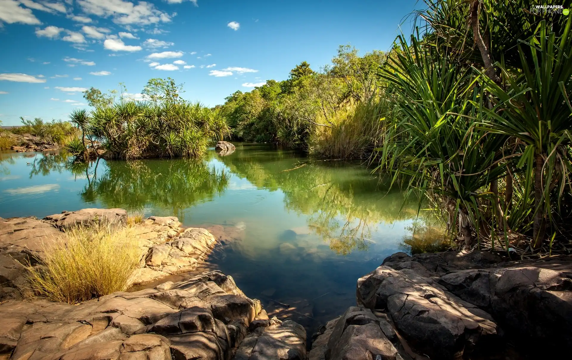
[[[358,305],[387,309],[403,337],[430,357],[454,359],[496,337],[489,314],[430,281],[415,270],[382,265],[358,280]]]

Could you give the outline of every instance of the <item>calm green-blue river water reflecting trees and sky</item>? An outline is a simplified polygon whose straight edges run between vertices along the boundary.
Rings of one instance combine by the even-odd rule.
[[[59,153],[0,154],[0,216],[87,207],[178,216],[222,240],[207,266],[269,311],[312,330],[355,305],[356,280],[406,250],[416,211],[370,169],[265,144],[204,160],[70,163]],[[97,165],[97,166],[96,166]]]

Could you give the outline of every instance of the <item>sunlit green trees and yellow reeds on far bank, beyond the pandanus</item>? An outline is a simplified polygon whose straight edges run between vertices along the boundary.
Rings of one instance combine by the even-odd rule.
[[[385,58],[381,51],[360,57],[355,48],[340,46],[320,72],[302,62],[287,80],[236,91],[221,109],[236,139],[361,157],[371,152],[378,130],[372,122],[380,107],[376,73]]]

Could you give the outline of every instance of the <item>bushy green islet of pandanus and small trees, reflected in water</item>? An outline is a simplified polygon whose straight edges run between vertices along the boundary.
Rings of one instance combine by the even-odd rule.
[[[182,85],[173,79],[150,79],[142,91],[145,101],[135,102],[123,90],[117,98],[93,87],[84,92],[94,110],[70,115],[82,136],[68,152],[88,159],[103,151],[108,159],[198,157],[228,133],[219,110],[183,100]]]

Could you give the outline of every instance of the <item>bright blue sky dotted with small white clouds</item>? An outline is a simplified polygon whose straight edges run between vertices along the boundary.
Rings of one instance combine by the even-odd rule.
[[[331,62],[339,45],[388,50],[411,32],[416,0],[0,0],[0,120],[67,120],[89,108],[82,91],[141,99],[150,78],[184,84],[206,106],[307,61]]]

